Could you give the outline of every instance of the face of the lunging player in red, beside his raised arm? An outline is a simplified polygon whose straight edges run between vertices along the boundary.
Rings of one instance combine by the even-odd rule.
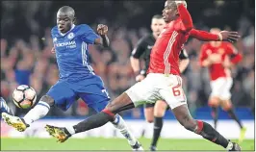
[[[175,8],[172,3],[174,2],[166,1],[165,3],[165,9],[163,10],[163,18],[166,21],[166,23],[169,23],[177,17],[177,8]]]

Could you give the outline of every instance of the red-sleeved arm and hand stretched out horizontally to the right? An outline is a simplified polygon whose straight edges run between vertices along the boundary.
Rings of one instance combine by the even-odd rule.
[[[216,34],[211,34],[206,31],[200,31],[196,29],[192,29],[190,31],[190,36],[192,38],[197,38],[199,40],[203,41],[237,41],[240,36],[238,35],[237,32],[229,32],[229,31],[221,31],[218,35]]]

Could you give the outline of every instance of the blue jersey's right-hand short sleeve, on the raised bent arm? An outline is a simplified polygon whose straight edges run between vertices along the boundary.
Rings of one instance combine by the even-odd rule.
[[[90,28],[90,26],[83,24],[81,25],[81,38],[83,41],[94,44],[94,41],[96,38],[99,38],[97,34],[94,33],[94,31]]]

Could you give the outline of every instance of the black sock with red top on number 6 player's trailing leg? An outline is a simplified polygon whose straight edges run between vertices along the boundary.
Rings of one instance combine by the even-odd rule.
[[[222,137],[218,131],[216,131],[210,124],[203,122],[203,121],[197,121],[197,129],[195,131],[196,134],[201,135],[204,139],[208,139],[212,142],[215,142],[222,147],[226,148],[228,145],[228,139],[225,139]]]

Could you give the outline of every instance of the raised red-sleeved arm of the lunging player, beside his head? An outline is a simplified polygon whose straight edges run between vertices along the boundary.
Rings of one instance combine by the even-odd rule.
[[[180,15],[180,18],[183,23],[183,27],[181,28],[184,32],[189,32],[192,30],[192,16],[185,7],[185,1],[176,1],[177,9]]]

